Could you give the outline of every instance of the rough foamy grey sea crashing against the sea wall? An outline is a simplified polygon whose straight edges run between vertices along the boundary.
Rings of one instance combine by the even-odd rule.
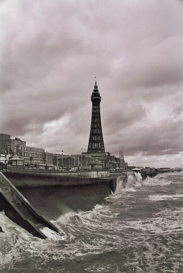
[[[0,273],[183,273],[183,173],[139,174],[33,237],[0,212]]]

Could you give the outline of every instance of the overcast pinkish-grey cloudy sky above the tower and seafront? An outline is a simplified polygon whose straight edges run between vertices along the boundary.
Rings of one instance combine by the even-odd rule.
[[[94,76],[105,150],[182,165],[183,1],[0,1],[0,133],[87,150]]]

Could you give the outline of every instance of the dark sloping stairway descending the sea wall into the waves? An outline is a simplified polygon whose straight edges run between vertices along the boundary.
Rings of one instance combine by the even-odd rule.
[[[36,237],[47,238],[40,230],[43,227],[58,231],[50,221],[38,214],[36,209],[0,172],[0,210],[2,209],[12,221]]]

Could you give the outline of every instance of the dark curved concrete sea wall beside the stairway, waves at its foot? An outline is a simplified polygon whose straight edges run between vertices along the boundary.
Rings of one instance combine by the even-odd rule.
[[[91,210],[115,190],[112,179],[22,172],[4,175],[49,220],[70,211]]]

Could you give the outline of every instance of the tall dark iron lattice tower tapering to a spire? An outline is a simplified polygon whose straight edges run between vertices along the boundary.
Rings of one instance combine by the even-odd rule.
[[[101,130],[100,101],[101,97],[95,81],[94,89],[91,95],[92,112],[88,152],[105,152]]]

